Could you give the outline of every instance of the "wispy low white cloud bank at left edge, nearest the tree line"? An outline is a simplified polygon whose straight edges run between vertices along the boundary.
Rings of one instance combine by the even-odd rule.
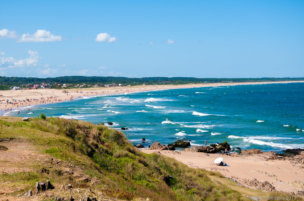
[[[29,50],[27,53],[29,54],[29,58],[20,60],[16,60],[13,57],[0,57],[0,67],[24,68],[39,66],[41,57],[38,55],[38,52]]]

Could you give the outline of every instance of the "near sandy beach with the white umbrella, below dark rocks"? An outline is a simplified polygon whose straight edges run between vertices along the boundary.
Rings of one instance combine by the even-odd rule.
[[[216,153],[147,149],[141,151],[143,153],[158,153],[159,151],[160,154],[175,158],[189,167],[217,171],[225,177],[236,179],[241,184],[244,184],[244,179],[253,180],[255,178],[261,182],[268,181],[275,187],[275,190],[279,191],[297,193],[304,190],[303,164],[294,164],[288,160],[266,160],[258,154],[234,157],[221,156]],[[223,157],[223,161],[229,166],[210,165],[218,157]],[[254,186],[249,187],[255,189]]]

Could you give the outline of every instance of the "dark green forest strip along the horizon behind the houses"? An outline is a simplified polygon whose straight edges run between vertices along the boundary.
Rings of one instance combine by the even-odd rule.
[[[86,77],[86,76],[62,76],[62,77],[5,77],[0,76],[0,90],[8,90],[11,86],[20,84],[197,84],[197,83],[219,83],[219,82],[268,82],[268,81],[304,81],[304,77],[261,77],[261,78],[196,78],[196,77]],[[5,83],[5,84],[3,84]]]

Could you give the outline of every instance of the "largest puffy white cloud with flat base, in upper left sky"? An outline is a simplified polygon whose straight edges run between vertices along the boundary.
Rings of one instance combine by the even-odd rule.
[[[50,31],[38,29],[33,35],[27,33],[22,34],[22,37],[19,38],[17,41],[18,43],[21,42],[51,42],[51,41],[61,41],[61,35],[55,36],[51,34]]]

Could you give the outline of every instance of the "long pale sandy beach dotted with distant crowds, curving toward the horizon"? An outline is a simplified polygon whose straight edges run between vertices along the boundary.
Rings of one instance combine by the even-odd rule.
[[[86,96],[116,95],[124,93],[148,92],[168,89],[184,89],[213,86],[234,86],[251,84],[280,84],[280,83],[299,83],[304,81],[275,81],[275,82],[233,82],[233,83],[204,83],[204,84],[180,84],[180,85],[136,85],[124,87],[91,87],[91,88],[72,88],[72,89],[34,89],[34,90],[7,90],[0,91],[1,100],[12,102],[16,99],[17,104],[6,104],[1,101],[0,116],[6,112],[16,111],[13,109],[24,108],[27,106],[50,104],[65,101],[74,101]],[[130,90],[129,90],[130,89]],[[64,91],[67,91],[66,93]],[[23,102],[29,99],[29,101]],[[68,99],[68,100],[67,100]],[[13,103],[13,102],[12,102]],[[5,106],[6,105],[6,106]]]

